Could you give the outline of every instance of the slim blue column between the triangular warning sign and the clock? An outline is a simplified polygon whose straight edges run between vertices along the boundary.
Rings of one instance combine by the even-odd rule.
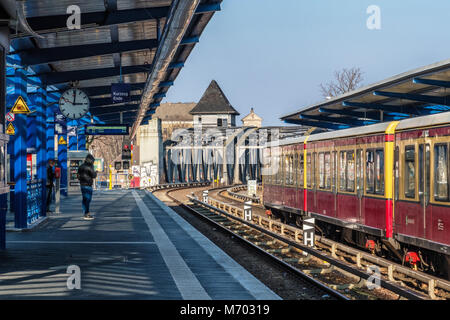
[[[38,88],[36,95],[36,170],[37,179],[42,181],[41,187],[41,208],[40,216],[44,217],[47,214],[45,185],[47,183],[47,91],[45,88]]]

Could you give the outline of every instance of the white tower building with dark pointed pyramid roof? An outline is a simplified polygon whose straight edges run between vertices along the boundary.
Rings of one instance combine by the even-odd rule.
[[[215,80],[212,80],[197,105],[190,111],[194,126],[234,127],[239,112],[233,108]]]

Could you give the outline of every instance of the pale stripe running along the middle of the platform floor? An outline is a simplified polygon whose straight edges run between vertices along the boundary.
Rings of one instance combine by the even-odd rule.
[[[173,280],[181,293],[183,299],[189,300],[210,300],[211,297],[206,293],[203,286],[198,281],[194,273],[189,269],[186,262],[181,257],[177,248],[170,241],[164,229],[158,223],[151,211],[147,208],[144,201],[133,190],[133,197],[144,217],[150,233],[156,241],[156,245],[172,275]]]

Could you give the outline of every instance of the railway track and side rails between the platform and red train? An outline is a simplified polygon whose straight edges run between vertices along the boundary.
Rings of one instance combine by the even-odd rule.
[[[216,195],[227,198],[221,194],[226,191],[223,187],[210,189],[213,190]],[[337,299],[450,298],[450,283],[446,280],[320,236],[316,236],[314,248],[307,247],[303,245],[302,230],[263,215],[253,215],[251,221],[246,221],[243,209],[235,201],[230,205],[210,196],[208,203],[204,203],[191,195],[188,197],[189,203],[181,203],[170,196],[172,191],[167,191],[172,201],[223,231],[232,233],[291,273]],[[379,277],[367,272],[368,268],[378,270]],[[379,283],[379,286],[370,289],[374,283]]]

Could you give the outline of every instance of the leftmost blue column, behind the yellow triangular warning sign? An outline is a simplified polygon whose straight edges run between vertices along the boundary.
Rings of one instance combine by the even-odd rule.
[[[20,95],[27,101],[27,76],[25,69],[16,69],[14,97]],[[14,213],[15,227],[26,228],[27,224],[27,116],[16,114],[16,134],[13,136],[11,167],[14,167]]]

